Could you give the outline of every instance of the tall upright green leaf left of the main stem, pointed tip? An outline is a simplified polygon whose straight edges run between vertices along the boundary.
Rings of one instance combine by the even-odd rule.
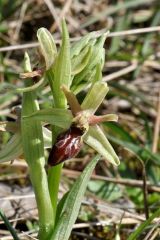
[[[26,71],[31,71],[29,56],[25,55]],[[28,79],[28,85],[32,80]],[[39,239],[47,240],[54,226],[54,212],[48,189],[47,174],[45,171],[44,143],[41,123],[30,121],[24,116],[31,115],[39,110],[36,93],[26,92],[22,99],[21,134],[22,146],[29,173],[35,192],[39,213]]]

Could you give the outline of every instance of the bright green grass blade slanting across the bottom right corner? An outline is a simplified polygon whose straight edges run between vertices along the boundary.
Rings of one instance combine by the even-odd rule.
[[[129,236],[127,240],[135,240],[138,236],[144,231],[144,229],[149,226],[152,221],[160,217],[160,209],[158,209],[156,212],[154,212],[144,223],[142,223],[134,232]]]

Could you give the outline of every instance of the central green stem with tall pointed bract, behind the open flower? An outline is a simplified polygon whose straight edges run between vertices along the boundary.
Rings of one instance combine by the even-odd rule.
[[[70,42],[66,23],[62,21],[62,43],[59,53],[55,59],[53,66],[47,71],[47,77],[52,90],[54,99],[54,107],[67,109],[67,101],[64,93],[61,90],[61,86],[64,84],[68,88],[71,84],[71,59],[70,59]],[[54,127],[52,128],[52,143],[54,144],[58,134],[62,129]],[[52,167],[49,170],[49,192],[54,209],[54,221],[56,217],[58,190],[61,178],[61,169],[63,164]]]

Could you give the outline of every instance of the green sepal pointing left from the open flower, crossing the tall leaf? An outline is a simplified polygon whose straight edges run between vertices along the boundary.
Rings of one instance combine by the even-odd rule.
[[[30,121],[37,120],[42,122],[47,122],[61,128],[69,128],[72,122],[72,114],[69,110],[58,109],[58,108],[48,108],[35,111],[31,115],[23,116],[24,119]]]

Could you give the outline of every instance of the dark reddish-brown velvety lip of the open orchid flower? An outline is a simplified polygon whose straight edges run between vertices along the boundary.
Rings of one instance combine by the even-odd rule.
[[[53,145],[48,158],[48,164],[55,166],[67,159],[75,157],[81,149],[83,130],[72,125],[66,132],[61,133]]]

